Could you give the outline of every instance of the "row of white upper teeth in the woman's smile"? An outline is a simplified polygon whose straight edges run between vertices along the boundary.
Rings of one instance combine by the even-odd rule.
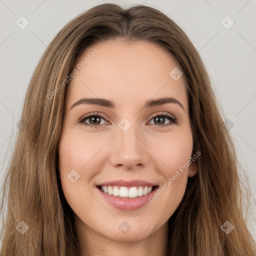
[[[101,190],[105,193],[118,196],[118,197],[129,197],[134,198],[137,196],[142,196],[150,193],[152,191],[152,186],[139,186],[138,188],[135,186],[125,187],[121,186],[118,188],[117,186],[101,186]]]

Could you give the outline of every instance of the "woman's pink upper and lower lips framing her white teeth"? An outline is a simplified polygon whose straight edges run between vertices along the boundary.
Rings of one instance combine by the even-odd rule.
[[[132,187],[132,186],[153,186],[153,189],[150,193],[142,196],[137,196],[135,198],[120,198],[114,195],[107,194],[103,191],[100,190],[100,186],[126,186],[126,187]],[[158,186],[155,183],[151,183],[145,180],[140,180],[140,179],[133,179],[133,180],[123,180],[123,179],[118,179],[118,180],[113,180],[113,181],[108,181],[104,183],[97,184],[98,191],[100,194],[103,196],[103,198],[112,206],[118,209],[122,210],[135,210],[146,203],[149,202],[149,197],[155,193],[155,188]]]

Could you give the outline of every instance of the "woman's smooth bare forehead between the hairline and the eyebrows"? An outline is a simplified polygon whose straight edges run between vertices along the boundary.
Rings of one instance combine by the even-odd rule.
[[[95,43],[77,59],[77,73],[68,84],[67,104],[82,96],[107,98],[117,106],[172,96],[187,108],[183,77],[174,80],[169,75],[175,67],[181,69],[165,49],[153,42]]]

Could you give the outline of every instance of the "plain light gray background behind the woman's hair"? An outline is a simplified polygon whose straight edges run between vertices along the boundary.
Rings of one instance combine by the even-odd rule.
[[[71,18],[103,2],[156,7],[172,18],[196,47],[222,105],[223,119],[228,118],[244,168],[240,176],[251,187],[250,206],[244,211],[249,212],[248,228],[255,240],[256,0],[0,0],[0,186],[24,95],[42,53]],[[29,21],[24,29],[15,23],[21,23],[21,15]],[[224,18],[226,15],[234,21],[228,29],[224,26],[232,21]]]

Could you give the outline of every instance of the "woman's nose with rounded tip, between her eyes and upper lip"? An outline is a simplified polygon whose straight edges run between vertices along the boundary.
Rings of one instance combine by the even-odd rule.
[[[111,141],[112,166],[129,170],[145,166],[150,153],[145,140],[145,136],[135,125],[131,125],[126,131],[118,127]]]

